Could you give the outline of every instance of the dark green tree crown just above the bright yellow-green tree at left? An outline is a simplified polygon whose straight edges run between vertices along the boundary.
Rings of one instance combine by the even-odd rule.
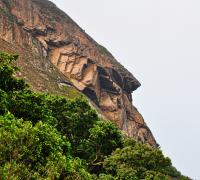
[[[33,123],[43,121],[56,125],[57,119],[52,116],[52,111],[46,103],[46,97],[45,94],[33,93],[30,90],[13,92],[10,94],[8,109],[17,118],[30,120]]]

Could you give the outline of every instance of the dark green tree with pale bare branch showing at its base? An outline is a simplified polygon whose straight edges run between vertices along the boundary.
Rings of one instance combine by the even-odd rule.
[[[105,156],[122,147],[122,134],[113,123],[106,121],[97,121],[89,133],[78,146],[78,155],[87,160],[92,172],[99,173]]]

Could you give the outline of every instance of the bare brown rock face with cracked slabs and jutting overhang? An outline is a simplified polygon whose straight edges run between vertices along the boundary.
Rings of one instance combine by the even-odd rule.
[[[29,48],[43,64],[50,63],[53,67],[46,65],[43,71],[49,71],[49,67],[50,73],[58,70],[127,136],[157,146],[143,117],[132,105],[131,93],[140,86],[139,81],[53,3],[0,0],[0,38]],[[41,66],[41,62],[36,64],[38,69]],[[29,73],[26,68],[23,72]]]

